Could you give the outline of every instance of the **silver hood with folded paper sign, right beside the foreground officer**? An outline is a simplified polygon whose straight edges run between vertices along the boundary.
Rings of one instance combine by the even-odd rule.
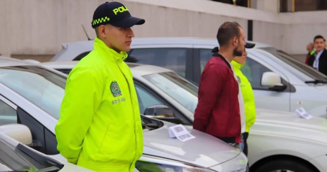
[[[176,124],[163,122],[161,128],[143,132],[143,154],[188,162],[202,167],[211,167],[236,157],[238,149],[198,130],[187,130],[196,138],[182,142],[169,137],[170,126]]]

